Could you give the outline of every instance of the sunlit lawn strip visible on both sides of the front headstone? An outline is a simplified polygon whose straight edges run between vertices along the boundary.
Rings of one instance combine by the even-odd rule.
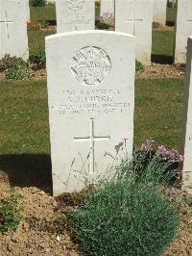
[[[46,81],[0,82],[0,153],[50,153]],[[134,144],[153,138],[178,147],[181,79],[136,80]]]

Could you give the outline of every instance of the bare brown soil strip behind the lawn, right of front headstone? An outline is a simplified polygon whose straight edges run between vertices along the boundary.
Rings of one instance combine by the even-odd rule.
[[[145,66],[144,71],[137,71],[136,78],[180,78],[184,76],[184,65],[154,64]]]

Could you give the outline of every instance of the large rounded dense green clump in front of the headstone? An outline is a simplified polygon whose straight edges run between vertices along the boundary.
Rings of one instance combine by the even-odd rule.
[[[152,188],[126,180],[93,192],[72,215],[88,255],[160,255],[173,240],[179,218]]]

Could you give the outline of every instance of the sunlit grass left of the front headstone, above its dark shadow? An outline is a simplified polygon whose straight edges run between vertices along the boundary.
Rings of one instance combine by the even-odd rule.
[[[46,82],[0,82],[1,154],[49,153]]]

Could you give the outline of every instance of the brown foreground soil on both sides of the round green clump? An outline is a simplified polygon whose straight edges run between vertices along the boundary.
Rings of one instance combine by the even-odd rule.
[[[0,176],[0,198],[8,195],[10,184],[5,175]],[[15,188],[23,197],[23,218],[15,231],[0,235],[0,255],[84,255],[70,238],[64,225],[60,226],[60,213],[67,211],[66,198],[51,197],[36,187]],[[173,190],[173,201],[180,202],[180,234],[170,244],[163,256],[192,255],[192,196]],[[190,198],[190,206],[184,200]],[[70,200],[70,198],[69,198]],[[61,204],[60,204],[61,202]],[[64,202],[64,203],[63,203]]]

